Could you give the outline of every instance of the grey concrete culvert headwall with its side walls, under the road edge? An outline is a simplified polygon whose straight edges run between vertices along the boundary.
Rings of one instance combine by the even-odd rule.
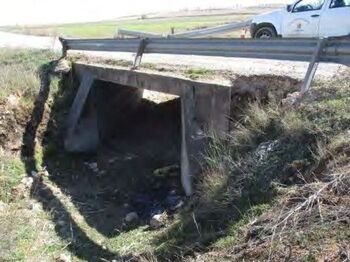
[[[181,98],[181,177],[187,195],[208,145],[208,134],[229,131],[231,87],[154,73],[75,64],[81,85],[66,137],[69,151],[93,151],[108,140],[140,102],[144,89]]]

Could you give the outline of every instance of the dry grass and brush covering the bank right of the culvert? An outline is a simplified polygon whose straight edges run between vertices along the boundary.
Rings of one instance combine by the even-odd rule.
[[[349,230],[339,238],[332,233],[349,223],[349,83],[320,84],[293,110],[278,101],[250,103],[232,125],[232,133],[224,140],[214,139],[196,208],[207,219],[213,216],[209,210],[217,208],[217,230],[226,233],[205,261],[218,256],[238,261],[280,261],[288,255],[292,260],[303,255],[319,258],[325,254],[310,252],[320,245],[321,235],[349,247],[344,242]],[[246,219],[249,210],[262,203],[271,208]],[[296,234],[305,236],[308,244],[300,247],[288,240]],[[333,251],[327,255],[333,256]]]

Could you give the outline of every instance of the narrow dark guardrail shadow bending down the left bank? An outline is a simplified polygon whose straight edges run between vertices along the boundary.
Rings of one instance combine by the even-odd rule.
[[[40,68],[40,90],[34,103],[34,109],[31,114],[31,118],[25,128],[23,135],[23,146],[21,150],[22,161],[25,164],[26,172],[28,176],[32,176],[35,173],[39,173],[37,169],[38,163],[36,160],[36,143],[37,132],[39,125],[41,124],[45,115],[45,105],[50,96],[50,83],[51,83],[51,68],[53,64],[45,65]],[[61,83],[61,87],[64,90],[64,83]],[[61,91],[60,91],[61,92]],[[64,91],[62,91],[64,92]],[[50,121],[51,124],[53,124]],[[49,132],[49,130],[48,130]],[[46,163],[45,163],[46,164]],[[35,180],[31,189],[31,195],[33,198],[42,203],[44,210],[52,214],[52,220],[56,224],[55,229],[57,235],[63,240],[69,242],[68,249],[77,257],[91,261],[100,258],[115,259],[118,254],[114,254],[101,245],[96,244],[91,240],[84,230],[82,230],[75,220],[72,218],[70,212],[66,209],[65,205],[54,194],[42,180],[38,178]],[[63,221],[59,222],[59,221]],[[70,230],[65,230],[63,227],[69,226]],[[74,237],[72,237],[72,232]]]

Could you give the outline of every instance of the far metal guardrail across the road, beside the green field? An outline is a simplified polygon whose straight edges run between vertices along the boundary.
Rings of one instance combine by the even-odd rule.
[[[225,34],[228,32],[233,32],[235,30],[239,30],[245,27],[248,27],[251,24],[252,20],[247,20],[243,22],[230,23],[215,27],[209,27],[204,29],[191,30],[187,32],[176,33],[173,35],[167,35],[168,38],[198,38],[198,37],[207,37],[207,36],[216,36]],[[127,29],[118,29],[119,36],[132,36],[132,37],[163,37],[161,34],[149,33],[149,32],[141,32],[141,31],[133,31]]]

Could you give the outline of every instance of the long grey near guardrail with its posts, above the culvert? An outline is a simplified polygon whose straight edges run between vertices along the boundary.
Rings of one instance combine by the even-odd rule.
[[[306,92],[319,62],[350,66],[350,37],[326,39],[215,39],[215,38],[146,38],[146,39],[64,39],[67,50],[135,52],[134,68],[142,55],[177,54],[309,62],[302,92]]]

